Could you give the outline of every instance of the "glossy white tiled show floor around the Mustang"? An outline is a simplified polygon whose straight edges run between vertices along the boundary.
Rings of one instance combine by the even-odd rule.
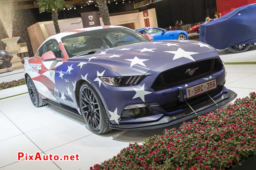
[[[236,92],[238,98],[256,91],[256,65],[226,65],[226,70],[226,87]],[[0,98],[23,91],[27,91],[25,86],[2,90]],[[58,111],[52,106],[34,107],[28,94],[0,100],[0,170],[89,169],[113,157],[130,142],[143,142],[152,135],[161,134],[164,129],[114,130],[106,135],[96,135],[86,129],[82,118],[63,111],[60,114],[52,108]],[[18,151],[59,155],[79,153],[80,161],[18,162]]]

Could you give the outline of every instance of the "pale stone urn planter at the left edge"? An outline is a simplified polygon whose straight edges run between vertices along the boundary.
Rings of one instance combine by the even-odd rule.
[[[11,37],[11,38],[4,38],[1,40],[6,44],[5,50],[8,53],[11,53],[13,55],[12,69],[14,69],[14,70],[23,68],[21,59],[17,56],[18,52],[20,51],[20,46],[17,43],[19,39],[20,39],[20,37]]]

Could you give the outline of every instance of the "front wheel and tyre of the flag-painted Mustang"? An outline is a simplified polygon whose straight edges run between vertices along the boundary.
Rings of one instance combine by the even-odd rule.
[[[93,133],[102,134],[112,130],[99,94],[87,82],[80,87],[79,106],[85,122]]]

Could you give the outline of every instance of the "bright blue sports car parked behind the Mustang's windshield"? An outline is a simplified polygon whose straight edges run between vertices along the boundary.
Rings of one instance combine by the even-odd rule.
[[[158,40],[188,40],[188,33],[186,31],[182,30],[176,30],[176,31],[167,31],[163,28],[157,28],[157,27],[145,27],[145,28],[139,28],[136,29],[138,33],[141,34],[149,34],[154,39],[153,41]]]

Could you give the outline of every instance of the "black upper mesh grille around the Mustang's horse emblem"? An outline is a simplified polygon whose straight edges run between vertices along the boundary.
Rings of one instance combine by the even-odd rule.
[[[188,69],[196,70],[194,74],[190,76],[188,73],[186,73]],[[160,73],[153,83],[152,88],[155,91],[159,91],[174,87],[176,85],[183,85],[209,76],[220,71],[221,69],[222,64],[218,58],[189,63]]]

